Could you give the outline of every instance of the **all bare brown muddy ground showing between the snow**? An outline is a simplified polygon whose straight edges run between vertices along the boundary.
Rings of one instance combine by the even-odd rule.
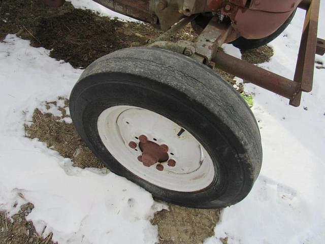
[[[51,57],[69,62],[75,68],[85,68],[95,59],[112,51],[146,45],[149,39],[154,39],[161,33],[150,25],[120,22],[100,17],[88,10],[74,9],[70,3],[55,9],[36,0],[2,0],[0,41],[7,34],[16,34],[30,40],[32,46],[47,48],[51,50]],[[194,40],[196,37],[190,26],[186,26],[170,40]],[[244,51],[242,55],[248,62],[258,64],[267,62],[273,55],[273,50],[263,46]],[[236,83],[233,75],[220,70],[216,72],[230,83]],[[242,84],[238,84],[238,87],[238,91],[243,92]],[[104,167],[81,141],[73,124],[62,121],[62,118],[70,117],[65,110],[69,101],[67,98],[58,99],[64,100],[64,106],[58,108],[62,116],[55,117],[35,109],[31,125],[25,126],[26,136],[39,138],[63,157],[71,158],[77,167]],[[51,104],[56,106],[56,101],[48,101],[46,106]],[[42,238],[32,223],[26,222],[25,216],[32,208],[30,203],[23,205],[18,214],[12,217],[13,222],[6,212],[0,212],[0,244],[53,243],[51,234]],[[214,234],[213,228],[218,219],[218,209],[191,209],[170,204],[170,211],[157,212],[152,224],[158,226],[160,243],[197,244]],[[227,239],[221,241],[226,243]]]

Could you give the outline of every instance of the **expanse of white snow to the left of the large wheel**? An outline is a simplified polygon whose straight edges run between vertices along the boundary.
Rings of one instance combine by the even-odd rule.
[[[27,220],[38,233],[47,226],[44,235],[53,232],[59,243],[155,243],[150,219],[164,204],[125,178],[72,167],[45,143],[24,137],[36,107],[60,115],[64,104],[46,109],[43,101],[68,97],[81,72],[15,35],[0,43],[0,210],[13,215],[33,203]]]

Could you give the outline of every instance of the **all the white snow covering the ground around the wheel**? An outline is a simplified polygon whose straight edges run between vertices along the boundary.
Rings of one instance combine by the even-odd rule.
[[[73,0],[79,7],[87,2]],[[320,13],[325,13],[321,3]],[[95,7],[94,7],[95,6]],[[101,8],[97,11],[103,11]],[[103,12],[110,14],[110,12]],[[293,78],[304,11],[271,43],[266,69]],[[318,36],[325,39],[325,16]],[[228,45],[228,52],[239,51]],[[11,214],[25,202],[38,232],[59,243],[155,243],[149,222],[164,206],[132,182],[108,171],[80,169],[38,140],[23,124],[43,101],[69,93],[81,74],[48,56],[44,48],[8,35],[0,43],[0,210]],[[316,56],[325,64],[325,58]],[[318,65],[319,66],[319,65]],[[261,129],[264,161],[251,193],[223,210],[215,237],[205,243],[323,243],[325,239],[325,69],[315,69],[314,87],[299,108],[251,84],[253,113]],[[23,196],[23,198],[21,197]],[[17,202],[18,206],[13,207]]]

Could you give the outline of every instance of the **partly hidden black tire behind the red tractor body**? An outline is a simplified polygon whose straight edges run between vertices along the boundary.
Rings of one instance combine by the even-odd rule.
[[[293,20],[295,16],[296,10],[291,13],[287,20],[270,36],[261,39],[245,39],[243,37],[239,37],[235,41],[232,41],[231,44],[241,50],[253,49],[268,44],[277,38],[285,30],[286,27],[288,27],[291,20]]]

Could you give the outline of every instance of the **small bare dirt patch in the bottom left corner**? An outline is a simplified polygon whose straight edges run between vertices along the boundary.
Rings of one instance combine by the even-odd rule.
[[[0,212],[0,244],[54,244],[52,233],[42,238],[35,230],[31,221],[25,217],[34,206],[31,203],[20,207],[18,214],[8,217],[6,211]]]

